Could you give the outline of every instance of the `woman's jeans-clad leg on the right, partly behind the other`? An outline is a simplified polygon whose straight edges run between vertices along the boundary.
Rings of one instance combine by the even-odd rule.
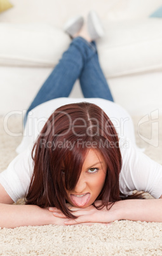
[[[92,41],[88,44],[91,45],[95,54],[87,59],[79,77],[83,95],[84,97],[98,97],[114,101],[104,73],[100,68],[96,43]]]

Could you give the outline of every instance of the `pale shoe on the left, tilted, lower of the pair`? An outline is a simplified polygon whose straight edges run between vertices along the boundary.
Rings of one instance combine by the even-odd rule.
[[[64,31],[67,32],[70,36],[74,36],[84,24],[84,19],[81,15],[71,18],[64,24]]]

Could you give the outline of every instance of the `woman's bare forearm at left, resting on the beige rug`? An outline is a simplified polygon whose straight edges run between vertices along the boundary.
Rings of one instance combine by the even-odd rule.
[[[0,204],[0,227],[55,224],[56,218],[47,209],[35,205]]]

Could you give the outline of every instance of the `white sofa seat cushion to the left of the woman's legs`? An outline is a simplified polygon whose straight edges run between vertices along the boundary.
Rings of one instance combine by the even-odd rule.
[[[70,38],[48,24],[0,23],[0,65],[55,66]]]

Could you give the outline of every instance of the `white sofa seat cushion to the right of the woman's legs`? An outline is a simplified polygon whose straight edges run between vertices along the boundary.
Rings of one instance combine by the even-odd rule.
[[[162,20],[105,22],[105,36],[98,40],[98,53],[109,77],[162,69]]]

